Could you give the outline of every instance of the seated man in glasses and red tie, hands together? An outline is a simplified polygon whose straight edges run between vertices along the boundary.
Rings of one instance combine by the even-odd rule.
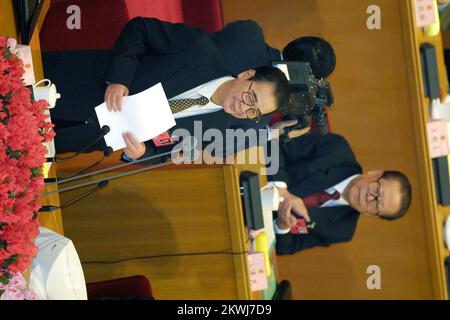
[[[337,134],[311,132],[293,139],[281,146],[280,158],[278,174],[269,177],[287,184],[279,188],[285,200],[275,220],[277,254],[350,241],[360,213],[393,220],[410,206],[405,175],[363,173],[350,145]]]

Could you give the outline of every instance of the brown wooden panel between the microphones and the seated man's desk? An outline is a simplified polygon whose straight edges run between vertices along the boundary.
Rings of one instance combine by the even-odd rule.
[[[70,169],[61,163],[58,172],[76,172],[80,163],[89,162],[73,161]],[[112,180],[63,209],[65,235],[75,244],[86,281],[145,275],[157,299],[258,298],[247,266],[250,241],[239,185],[244,170],[265,169],[170,165]],[[260,185],[266,181],[260,175]],[[61,202],[84,190],[61,193]]]

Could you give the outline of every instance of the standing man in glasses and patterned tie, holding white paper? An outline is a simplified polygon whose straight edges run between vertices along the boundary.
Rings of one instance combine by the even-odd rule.
[[[169,101],[198,99],[199,92],[208,93],[206,108],[182,111],[187,114],[177,118],[171,130],[185,128],[192,135],[194,120],[202,122],[203,131],[223,132],[233,127],[235,118],[258,128],[264,124],[255,121],[284,104],[289,94],[287,80],[278,69],[249,69],[233,78],[207,33],[151,18],[130,20],[112,52],[76,52],[70,60],[67,55],[61,57],[58,53],[44,57],[46,75],[62,93],[58,107],[51,111],[53,120],[62,124],[55,139],[58,152],[78,151],[99,135],[93,107],[106,101],[110,111],[120,111],[123,96],[159,82]],[[87,125],[70,126],[71,122]],[[124,139],[128,158],[158,152],[151,141],[139,142],[132,133]],[[101,140],[91,150],[104,147]]]

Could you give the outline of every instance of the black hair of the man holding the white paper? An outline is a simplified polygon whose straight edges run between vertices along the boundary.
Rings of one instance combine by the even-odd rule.
[[[254,69],[255,75],[251,78],[256,82],[270,82],[275,85],[275,99],[277,109],[289,102],[289,82],[283,71],[275,67],[262,66]]]

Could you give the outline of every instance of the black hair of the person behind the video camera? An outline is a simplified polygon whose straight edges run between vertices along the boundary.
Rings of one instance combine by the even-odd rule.
[[[317,78],[328,77],[336,67],[336,54],[325,39],[319,37],[300,37],[283,49],[286,61],[309,62]]]

